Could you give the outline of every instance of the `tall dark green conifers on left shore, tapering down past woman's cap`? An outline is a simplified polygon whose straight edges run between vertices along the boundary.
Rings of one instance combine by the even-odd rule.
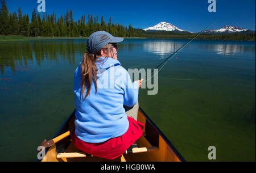
[[[86,37],[95,31],[107,31],[114,36],[120,37],[137,37],[138,32],[131,26],[125,27],[122,24],[113,23],[112,17],[106,23],[104,16],[99,19],[98,15],[82,15],[77,21],[73,19],[72,10],[56,18],[56,14],[39,13],[32,11],[32,17],[29,19],[28,14],[22,14],[19,7],[18,14],[9,12],[6,1],[1,1],[0,9],[0,35],[20,35],[20,36],[56,36],[56,37]]]

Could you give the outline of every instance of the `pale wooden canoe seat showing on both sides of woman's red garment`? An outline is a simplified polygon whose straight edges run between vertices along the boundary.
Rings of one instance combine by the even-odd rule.
[[[146,136],[146,134],[143,134],[143,136]],[[151,147],[138,147],[137,142],[134,142],[133,145],[129,147],[123,154],[128,154],[128,153],[144,153],[144,152],[150,152],[150,151],[157,151],[158,147],[157,146],[151,146]],[[90,156],[93,157],[93,155],[86,154],[82,151],[75,152],[75,153],[56,153],[57,158],[82,158]]]

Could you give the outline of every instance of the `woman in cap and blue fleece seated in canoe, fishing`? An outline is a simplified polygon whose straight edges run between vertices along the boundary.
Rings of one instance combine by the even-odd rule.
[[[117,43],[121,41],[105,31],[92,33],[74,77],[73,144],[106,159],[122,155],[142,136],[144,126],[136,121],[142,80],[132,83],[117,60]]]

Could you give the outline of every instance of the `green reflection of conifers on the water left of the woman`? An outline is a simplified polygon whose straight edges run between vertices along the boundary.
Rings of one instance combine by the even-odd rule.
[[[69,64],[75,64],[76,54],[83,54],[86,49],[84,40],[68,41],[16,41],[0,43],[0,70],[1,74],[9,68],[12,72],[18,67],[35,64],[39,67],[43,61],[58,64],[59,61],[68,60]]]

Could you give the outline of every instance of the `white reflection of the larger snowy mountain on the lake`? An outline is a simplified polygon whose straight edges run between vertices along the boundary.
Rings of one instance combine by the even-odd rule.
[[[144,43],[143,47],[149,53],[155,53],[160,56],[166,56],[179,49],[183,44],[167,41],[154,41],[149,43]],[[163,57],[161,57],[163,58]]]

